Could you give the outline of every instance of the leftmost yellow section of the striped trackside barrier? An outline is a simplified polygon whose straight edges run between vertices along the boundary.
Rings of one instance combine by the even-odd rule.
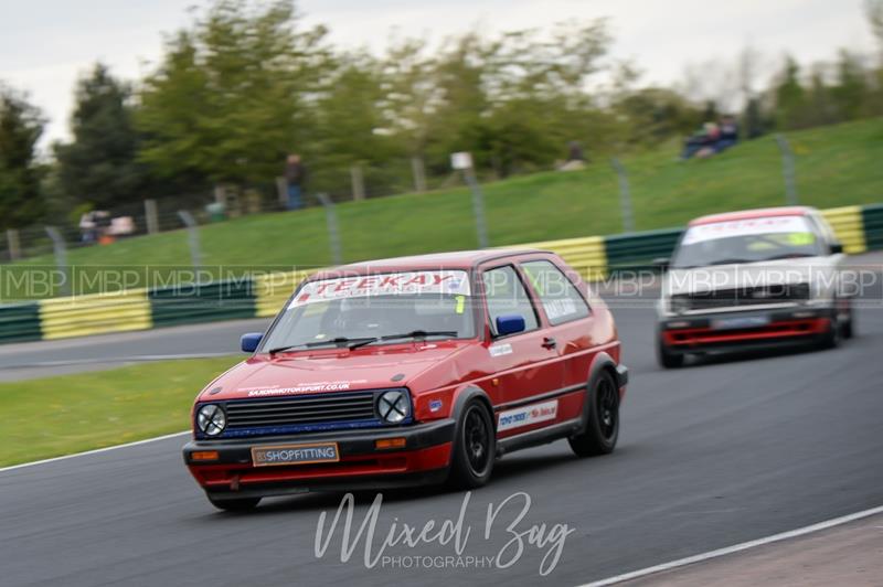
[[[41,300],[40,320],[47,340],[152,325],[146,289]]]

